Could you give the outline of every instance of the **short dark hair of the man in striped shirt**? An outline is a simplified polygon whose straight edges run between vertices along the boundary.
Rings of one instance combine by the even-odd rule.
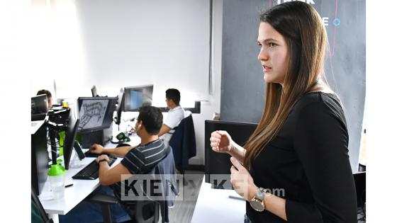
[[[147,133],[157,135],[162,127],[161,110],[154,106],[142,106],[139,109],[138,120],[142,121]]]

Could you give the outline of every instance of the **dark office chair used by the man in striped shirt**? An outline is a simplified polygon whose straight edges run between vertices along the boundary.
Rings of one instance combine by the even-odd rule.
[[[170,176],[175,175],[175,164],[174,164],[174,156],[172,154],[172,148],[169,147],[167,151],[167,156],[165,156],[162,161],[160,161],[155,168],[150,171],[148,174],[156,174],[162,176]],[[170,180],[170,181],[168,181]],[[165,182],[165,183],[164,183]],[[173,182],[168,183],[168,182]],[[162,194],[166,195],[165,191],[167,189],[168,192],[177,196],[179,190],[176,187],[176,176],[173,179],[168,179],[167,181],[162,179]],[[169,188],[168,188],[169,187]],[[130,200],[123,201],[118,200],[111,195],[104,195],[101,193],[93,193],[89,198],[86,198],[89,202],[96,202],[101,204],[102,206],[102,214],[104,215],[104,222],[111,223],[111,209],[110,205],[121,203],[125,207],[127,207],[128,215],[130,215],[132,221],[129,222],[137,222],[137,223],[154,223],[158,222],[160,219],[160,212],[162,215],[162,222],[169,222],[168,219],[168,207],[173,205],[174,200],[151,200],[149,196],[147,196],[147,200]]]

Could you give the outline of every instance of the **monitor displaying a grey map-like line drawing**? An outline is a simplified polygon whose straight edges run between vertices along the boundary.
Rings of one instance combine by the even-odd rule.
[[[87,133],[111,127],[116,101],[116,97],[78,98],[80,123],[77,131]]]

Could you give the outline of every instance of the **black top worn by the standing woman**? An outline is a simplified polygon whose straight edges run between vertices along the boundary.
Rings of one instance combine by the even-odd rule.
[[[252,162],[255,185],[286,199],[288,222],[357,222],[349,136],[337,96],[306,93]],[[282,191],[284,190],[284,195]],[[246,204],[252,222],[285,222]]]

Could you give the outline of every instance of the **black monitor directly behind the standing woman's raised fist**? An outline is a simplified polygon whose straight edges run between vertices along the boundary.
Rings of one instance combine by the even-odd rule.
[[[212,174],[230,174],[230,155],[217,153],[211,148],[211,132],[225,130],[239,145],[243,145],[257,128],[257,124],[228,121],[205,121],[205,174],[206,183],[213,183]],[[231,187],[230,187],[231,188]]]

